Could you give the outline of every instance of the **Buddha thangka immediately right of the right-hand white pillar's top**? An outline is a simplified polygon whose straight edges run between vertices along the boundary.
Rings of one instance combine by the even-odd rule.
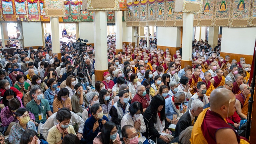
[[[203,0],[203,13],[199,15],[199,26],[212,26],[214,16],[214,0]]]

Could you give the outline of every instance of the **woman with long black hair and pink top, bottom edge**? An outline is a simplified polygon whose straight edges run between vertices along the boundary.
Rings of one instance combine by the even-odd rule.
[[[102,131],[93,140],[94,144],[122,144],[117,127],[113,122],[106,122],[103,125]]]

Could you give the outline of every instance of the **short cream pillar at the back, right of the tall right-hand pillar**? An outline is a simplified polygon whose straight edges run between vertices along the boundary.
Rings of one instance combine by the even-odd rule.
[[[208,43],[214,48],[218,45],[219,27],[209,27]]]

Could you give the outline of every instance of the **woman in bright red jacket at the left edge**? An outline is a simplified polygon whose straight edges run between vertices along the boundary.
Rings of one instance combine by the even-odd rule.
[[[6,90],[11,89],[11,90],[13,90],[15,92],[16,96],[18,96],[20,98],[23,97],[23,94],[20,91],[18,91],[15,87],[11,87],[11,85],[10,85],[10,83],[9,83],[9,81],[7,79],[0,80],[0,87],[1,87],[1,89],[0,89],[0,92],[1,92],[0,95],[1,96],[4,95],[4,92]]]

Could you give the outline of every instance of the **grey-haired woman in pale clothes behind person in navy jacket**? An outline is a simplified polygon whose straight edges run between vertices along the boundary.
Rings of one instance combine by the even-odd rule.
[[[93,106],[94,104],[99,104],[99,97],[98,94],[96,92],[88,92],[86,94],[87,97],[87,101],[90,103],[83,111],[82,113],[82,119],[84,121],[86,121],[88,118],[91,117],[91,106]]]

